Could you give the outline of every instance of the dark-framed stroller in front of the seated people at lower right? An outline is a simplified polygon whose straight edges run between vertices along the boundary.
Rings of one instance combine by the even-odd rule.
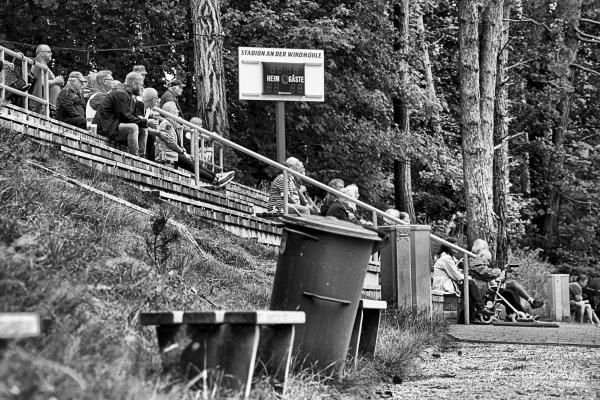
[[[498,308],[500,305],[505,308],[507,321],[509,322],[536,322],[537,316],[529,315],[523,311],[517,310],[500,292],[501,289],[506,288],[506,281],[509,273],[518,276],[518,273],[514,271],[514,268],[518,267],[518,264],[508,264],[498,278],[488,282],[488,291],[483,296],[483,301],[485,308],[492,311],[494,314],[491,316],[483,314],[479,315],[479,322],[491,324],[500,321],[500,309]]]

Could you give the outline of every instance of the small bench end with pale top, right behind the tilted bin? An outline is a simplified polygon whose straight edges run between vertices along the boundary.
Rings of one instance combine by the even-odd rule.
[[[348,350],[355,367],[359,355],[363,357],[375,355],[381,311],[386,308],[387,302],[381,300],[362,299],[358,304]]]

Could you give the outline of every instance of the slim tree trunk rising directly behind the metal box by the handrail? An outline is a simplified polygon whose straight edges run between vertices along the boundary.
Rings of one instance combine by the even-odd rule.
[[[394,50],[400,52],[400,80],[402,82],[402,91],[408,86],[408,21],[409,21],[409,0],[401,0],[394,5],[394,27],[398,30],[398,39],[394,42]],[[394,107],[394,122],[398,124],[405,135],[410,132],[410,110],[404,100],[406,94],[394,97],[392,99]],[[404,157],[402,160],[394,161],[394,194],[396,208],[406,211],[410,215],[411,221],[416,220],[415,207],[412,198],[412,181],[410,158]]]

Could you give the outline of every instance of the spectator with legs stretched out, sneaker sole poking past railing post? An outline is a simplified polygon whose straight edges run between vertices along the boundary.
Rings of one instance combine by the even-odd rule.
[[[166,103],[163,109],[173,115],[178,114],[176,105],[173,102]],[[176,132],[177,122],[170,119],[164,119],[159,127],[159,134],[156,135],[154,143],[155,161],[161,164],[181,167],[190,172],[194,172],[194,159],[186,153],[185,149],[179,144],[180,140]],[[200,177],[211,182],[215,186],[223,187],[229,183],[234,175],[234,171],[215,174],[213,171],[198,165]]]

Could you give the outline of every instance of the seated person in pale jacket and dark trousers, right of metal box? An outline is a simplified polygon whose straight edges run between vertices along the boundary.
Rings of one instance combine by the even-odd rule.
[[[454,238],[444,239],[450,243],[456,243]],[[463,273],[456,265],[456,258],[450,246],[442,244],[434,256],[432,291],[461,296],[460,284],[464,280]],[[491,317],[494,313],[485,308],[479,287],[474,280],[469,279],[469,314],[471,320],[483,315]]]

